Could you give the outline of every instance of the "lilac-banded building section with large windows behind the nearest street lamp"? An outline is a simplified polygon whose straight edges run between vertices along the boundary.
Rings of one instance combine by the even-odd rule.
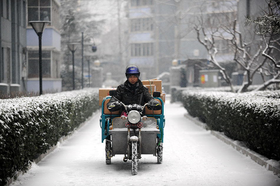
[[[62,91],[60,78],[60,2],[58,0],[28,1],[27,11],[27,91],[39,91],[39,40],[29,21],[50,21],[42,35],[43,92]]]

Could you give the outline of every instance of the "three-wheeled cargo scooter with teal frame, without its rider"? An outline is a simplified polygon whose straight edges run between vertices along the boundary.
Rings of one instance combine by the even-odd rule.
[[[129,108],[122,103],[127,117],[120,116],[118,111],[110,112],[106,108],[111,96],[116,95],[116,90],[109,91],[109,95],[102,101],[100,118],[102,143],[106,141],[106,164],[111,164],[111,157],[122,154],[124,162],[131,160],[131,174],[136,175],[137,162],[142,154],[157,156],[157,162],[162,163],[165,118],[164,104],[159,98],[160,92],[154,92],[153,97],[161,103],[161,110],[149,110],[148,103],[144,106],[134,104]],[[141,113],[143,110],[145,114]]]

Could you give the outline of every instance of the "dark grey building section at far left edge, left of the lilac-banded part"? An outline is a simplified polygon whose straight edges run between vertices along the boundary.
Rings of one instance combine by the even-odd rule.
[[[25,90],[26,6],[26,0],[0,0],[0,83],[6,92]]]

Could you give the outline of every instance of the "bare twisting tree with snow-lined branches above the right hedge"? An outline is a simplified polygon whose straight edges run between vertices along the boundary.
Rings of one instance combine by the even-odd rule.
[[[266,88],[272,83],[279,83],[279,61],[275,58],[275,53],[279,53],[279,39],[273,39],[270,37],[255,37],[252,42],[246,42],[246,34],[238,30],[241,26],[238,24],[237,17],[233,17],[232,20],[227,19],[227,23],[220,22],[220,18],[223,12],[218,14],[218,17],[200,16],[195,23],[195,30],[197,31],[198,41],[205,46],[209,55],[209,61],[220,69],[223,78],[231,87],[232,91],[235,91],[232,86],[232,82],[229,74],[225,69],[217,62],[216,56],[219,53],[223,53],[222,50],[218,50],[216,41],[226,41],[228,47],[232,51],[233,58],[239,68],[244,71],[244,79],[241,88],[238,92],[248,91],[248,86],[253,82],[253,77],[256,73],[261,74],[263,77],[263,84],[257,88],[261,90]],[[205,22],[216,21],[215,26],[207,26]],[[265,76],[272,76],[268,81],[265,80]]]

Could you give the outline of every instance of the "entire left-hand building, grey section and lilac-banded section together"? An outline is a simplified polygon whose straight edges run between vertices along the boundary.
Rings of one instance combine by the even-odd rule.
[[[58,0],[0,0],[0,91],[39,92],[39,41],[28,21],[51,21],[42,36],[43,91],[61,91]]]

